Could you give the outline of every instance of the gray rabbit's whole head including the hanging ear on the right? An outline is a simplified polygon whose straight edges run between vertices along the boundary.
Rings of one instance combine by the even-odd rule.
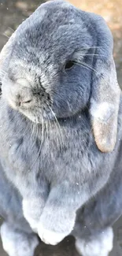
[[[46,2],[9,39],[0,68],[2,97],[13,109],[42,123],[90,108],[98,148],[113,150],[120,88],[113,36],[102,17]]]

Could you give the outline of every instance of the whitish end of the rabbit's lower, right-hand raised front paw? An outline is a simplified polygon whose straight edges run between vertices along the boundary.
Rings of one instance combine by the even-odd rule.
[[[40,239],[46,244],[56,245],[61,240],[68,236],[74,227],[75,217],[63,217],[62,215],[56,216],[52,214],[52,217],[48,214],[42,216],[39,221],[38,234]]]

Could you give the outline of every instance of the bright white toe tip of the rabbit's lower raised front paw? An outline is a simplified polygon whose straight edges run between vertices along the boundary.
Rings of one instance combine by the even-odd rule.
[[[51,244],[51,245],[56,245],[57,243],[60,243],[61,240],[65,238],[65,236],[68,236],[68,234],[65,234],[65,233],[57,233],[57,232],[47,230],[43,228],[42,224],[39,224],[38,234],[40,239],[44,243]]]

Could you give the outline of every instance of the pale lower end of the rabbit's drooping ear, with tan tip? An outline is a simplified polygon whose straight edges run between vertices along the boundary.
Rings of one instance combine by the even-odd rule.
[[[95,143],[102,152],[112,152],[116,144],[118,103],[91,101],[91,123]]]

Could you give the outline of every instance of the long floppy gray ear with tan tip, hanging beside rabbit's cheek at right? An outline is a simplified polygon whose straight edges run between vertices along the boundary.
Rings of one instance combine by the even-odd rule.
[[[102,17],[90,15],[97,37],[91,85],[91,123],[98,149],[111,152],[116,143],[120,103],[120,87],[113,61],[113,36]]]

